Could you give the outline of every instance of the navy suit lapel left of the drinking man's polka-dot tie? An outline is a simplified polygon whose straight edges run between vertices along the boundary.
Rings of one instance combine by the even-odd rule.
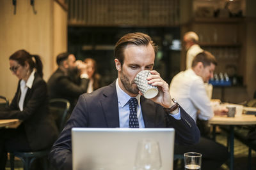
[[[118,114],[118,99],[116,94],[116,85],[114,81],[103,92],[100,103],[105,113],[108,127],[120,127]]]

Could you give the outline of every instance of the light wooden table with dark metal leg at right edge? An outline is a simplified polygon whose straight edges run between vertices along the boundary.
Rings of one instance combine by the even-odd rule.
[[[230,170],[234,169],[234,126],[235,125],[255,125],[255,115],[242,115],[241,117],[214,116],[209,120],[211,125],[229,125],[229,150],[230,150]]]

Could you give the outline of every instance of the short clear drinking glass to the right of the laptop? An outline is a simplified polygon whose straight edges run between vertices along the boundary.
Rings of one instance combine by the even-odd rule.
[[[184,153],[185,170],[200,170],[202,154],[196,152]]]

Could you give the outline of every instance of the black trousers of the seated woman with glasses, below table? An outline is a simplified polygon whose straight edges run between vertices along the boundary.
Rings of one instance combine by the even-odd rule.
[[[29,151],[24,126],[20,125],[17,129],[0,129],[0,170],[5,169],[7,152]]]

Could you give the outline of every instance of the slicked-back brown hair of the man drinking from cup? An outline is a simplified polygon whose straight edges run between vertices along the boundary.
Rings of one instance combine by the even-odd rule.
[[[154,52],[155,53],[157,52],[157,46],[151,40],[150,36],[148,36],[147,34],[143,34],[141,32],[125,34],[122,38],[118,40],[114,50],[114,56],[116,59],[119,60],[121,65],[124,63],[124,48],[129,44],[138,45],[138,46],[140,45],[148,46],[149,44],[151,44],[154,48]]]

